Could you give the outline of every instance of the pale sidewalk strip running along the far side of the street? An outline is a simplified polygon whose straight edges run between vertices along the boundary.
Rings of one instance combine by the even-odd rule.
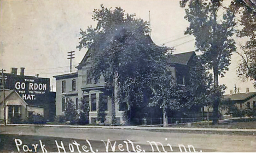
[[[2,125],[3,126],[3,125]],[[234,128],[189,128],[189,127],[149,127],[149,126],[86,126],[86,125],[27,125],[8,124],[7,126],[39,126],[39,127],[67,127],[67,128],[105,128],[123,130],[188,130],[188,131],[234,131],[234,132],[256,132],[256,129],[234,129]]]

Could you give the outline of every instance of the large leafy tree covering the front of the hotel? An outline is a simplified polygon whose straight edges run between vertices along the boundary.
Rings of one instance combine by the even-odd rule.
[[[135,14],[125,14],[121,8],[95,9],[92,19],[95,28],[80,32],[78,48],[92,51],[92,77],[103,75],[106,89],[112,99],[112,124],[115,124],[115,102],[126,99],[127,105],[142,101],[150,88],[153,76],[164,71],[166,47],[155,45],[149,34],[149,26]],[[131,99],[132,95],[136,99]],[[129,97],[129,98],[125,98]],[[128,101],[129,99],[129,101]]]

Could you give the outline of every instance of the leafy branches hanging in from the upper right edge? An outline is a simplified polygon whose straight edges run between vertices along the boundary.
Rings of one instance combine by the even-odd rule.
[[[248,37],[247,42],[241,44],[241,51],[237,51],[242,57],[237,70],[238,76],[253,80],[256,87],[256,3],[253,1],[234,0],[230,8],[236,13],[242,27],[237,31],[237,36]]]

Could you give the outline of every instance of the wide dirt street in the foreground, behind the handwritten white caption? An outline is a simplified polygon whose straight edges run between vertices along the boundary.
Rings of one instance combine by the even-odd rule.
[[[18,151],[15,146],[15,138],[23,141],[25,144],[27,139],[33,139],[37,141],[35,143],[39,144],[40,137],[43,140],[52,140],[51,145],[55,147],[56,152],[58,152],[56,148],[56,142],[67,143],[65,148],[66,151],[69,152],[69,143],[74,143],[74,139],[83,140],[85,143],[86,140],[91,142],[92,148],[96,149],[95,146],[98,146],[98,152],[104,152],[106,150],[107,140],[109,139],[112,142],[112,145],[115,141],[117,144],[115,146],[115,152],[132,151],[132,143],[134,143],[134,148],[136,150],[136,145],[141,146],[141,150],[152,151],[152,146],[154,147],[155,152],[159,152],[157,148],[155,148],[154,143],[152,146],[149,142],[160,142],[166,151],[170,152],[170,145],[173,148],[173,151],[180,151],[179,145],[181,148],[184,145],[187,150],[189,150],[188,145],[193,145],[196,151],[217,151],[217,152],[255,152],[256,151],[256,137],[254,136],[230,136],[225,134],[190,134],[190,133],[168,133],[168,132],[151,132],[144,130],[122,130],[122,129],[104,129],[104,128],[67,128],[67,127],[25,127],[25,126],[7,126],[0,127],[0,136],[2,145],[5,145],[7,142],[3,143],[3,139],[9,139],[12,141],[13,151]],[[34,136],[34,137],[32,137]],[[69,138],[69,139],[67,139]],[[64,141],[65,140],[65,141]],[[84,141],[85,140],[85,141]],[[106,145],[104,145],[103,140]],[[129,142],[129,140],[132,142]],[[68,143],[69,142],[69,143]],[[126,142],[126,143],[125,143]],[[11,145],[11,143],[9,145]],[[19,142],[17,142],[20,144]],[[31,142],[30,142],[31,143]],[[44,143],[44,142],[43,142]],[[86,142],[88,145],[88,143]],[[118,148],[118,144],[122,144],[123,148]],[[163,151],[159,145],[160,151]],[[169,145],[168,145],[169,144]],[[49,145],[49,144],[48,144]],[[126,148],[125,145],[129,145]],[[47,145],[45,145],[47,146]],[[75,144],[73,147],[75,148]],[[81,144],[82,146],[82,144]],[[90,145],[88,145],[89,148]],[[121,145],[120,145],[121,146]],[[22,151],[22,145],[19,146]],[[26,146],[25,146],[26,149]],[[71,147],[72,149],[72,147]],[[182,148],[183,149],[183,148]],[[193,147],[190,147],[191,151],[193,151]],[[0,150],[1,151],[1,150]],[[2,150],[4,151],[4,150]],[[9,150],[10,151],[10,150]],[[62,150],[60,150],[62,152]],[[72,151],[72,150],[71,150]],[[77,151],[77,150],[74,150]],[[81,150],[83,152],[83,150]],[[95,151],[95,150],[94,150]],[[97,152],[96,151],[96,152]],[[109,146],[109,152],[112,150]],[[137,151],[137,150],[136,150]],[[89,150],[89,152],[91,152]]]

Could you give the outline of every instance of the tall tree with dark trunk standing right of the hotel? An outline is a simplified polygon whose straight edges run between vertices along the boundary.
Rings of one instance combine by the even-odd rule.
[[[228,70],[232,51],[235,51],[234,34],[235,15],[223,6],[222,0],[183,0],[181,7],[185,8],[185,19],[190,23],[185,34],[193,34],[196,40],[196,51],[202,52],[202,58],[208,68],[213,69],[213,123],[218,122],[220,89],[219,76],[224,77]],[[218,11],[224,11],[219,16]]]

